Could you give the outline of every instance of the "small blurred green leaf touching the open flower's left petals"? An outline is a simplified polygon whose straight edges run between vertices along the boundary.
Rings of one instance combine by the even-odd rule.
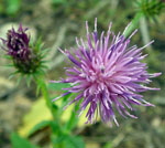
[[[50,83],[48,84],[48,89],[53,91],[62,91],[62,88],[70,87],[70,84],[66,83]]]

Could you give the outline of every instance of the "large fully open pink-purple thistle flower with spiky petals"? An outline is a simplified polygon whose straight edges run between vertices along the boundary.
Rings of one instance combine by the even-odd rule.
[[[114,108],[123,117],[136,118],[129,113],[134,109],[132,105],[154,106],[139,94],[148,89],[158,89],[143,85],[148,84],[151,77],[161,75],[161,73],[148,74],[146,64],[141,62],[146,56],[142,55],[142,50],[153,41],[143,47],[136,45],[129,47],[131,36],[136,30],[125,39],[120,33],[114,35],[110,31],[111,23],[107,34],[102,32],[99,36],[97,19],[92,33],[89,33],[88,23],[86,23],[86,29],[87,41],[76,39],[77,47],[73,53],[68,50],[61,50],[74,64],[66,68],[67,78],[58,82],[52,81],[72,84],[72,87],[64,88],[68,92],[62,95],[77,93],[68,105],[81,101],[80,113],[89,106],[86,115],[87,123],[96,121],[99,113],[103,123],[111,124],[114,120],[117,125],[119,124]]]

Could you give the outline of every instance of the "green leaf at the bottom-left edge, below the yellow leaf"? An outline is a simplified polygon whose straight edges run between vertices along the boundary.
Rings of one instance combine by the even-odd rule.
[[[11,144],[12,148],[38,148],[37,146],[32,145],[25,138],[19,136],[16,133],[11,134]]]

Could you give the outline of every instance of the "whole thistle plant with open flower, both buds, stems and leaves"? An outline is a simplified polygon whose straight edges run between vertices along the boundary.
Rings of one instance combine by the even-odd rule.
[[[131,46],[130,42],[138,32],[138,30],[133,30],[142,21],[141,19],[155,19],[163,8],[164,3],[160,0],[136,0],[134,19],[123,33],[114,34],[111,31],[112,23],[110,23],[108,31],[106,33],[102,31],[99,34],[96,19],[92,32],[89,31],[88,22],[86,22],[87,36],[85,40],[76,38],[76,47],[72,50],[59,49],[72,62],[72,65],[65,68],[66,78],[52,81],[55,87],[58,87],[58,83],[64,83],[63,89],[65,91],[53,102],[63,97],[62,106],[65,106],[69,101],[66,107],[72,104],[75,107],[69,119],[65,121],[62,121],[61,118],[64,113],[63,107],[56,106],[48,94],[47,81],[45,81],[46,50],[43,47],[43,43],[41,40],[32,42],[26,33],[29,29],[23,28],[22,24],[18,30],[14,28],[9,30],[7,39],[1,39],[3,43],[1,47],[6,51],[6,57],[12,63],[9,66],[13,66],[15,70],[11,76],[19,75],[19,80],[24,77],[29,85],[33,80],[37,86],[36,92],[42,93],[52,114],[51,119],[38,123],[30,133],[33,134],[48,126],[52,129],[53,144],[51,146],[55,148],[78,148],[81,146],[84,148],[82,140],[72,133],[78,121],[77,113],[80,116],[86,109],[86,120],[89,124],[96,123],[99,116],[101,121],[110,126],[116,123],[119,126],[117,115],[124,118],[138,118],[134,115],[136,106],[154,106],[150,103],[152,101],[144,99],[141,94],[146,91],[160,89],[150,87],[150,83],[151,78],[161,75],[161,73],[150,74],[147,64],[143,63],[147,56],[143,55],[143,50],[154,41],[142,47]],[[96,11],[96,9],[94,10]],[[143,29],[145,30],[145,28]],[[16,144],[21,148],[24,147],[18,141]]]

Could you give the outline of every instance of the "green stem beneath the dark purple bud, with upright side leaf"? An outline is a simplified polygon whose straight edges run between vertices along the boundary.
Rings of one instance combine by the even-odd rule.
[[[57,109],[57,106],[55,106],[52,101],[50,99],[47,85],[45,84],[45,77],[43,75],[35,77],[37,87],[41,89],[43,97],[45,98],[46,105],[48,109],[51,110],[53,121],[52,121],[52,131],[53,135],[58,137],[65,137],[66,135],[69,135],[69,131],[76,126],[77,118],[76,113],[73,113],[70,115],[70,118],[68,123],[66,124],[66,127],[64,128],[61,123],[61,113]],[[78,109],[78,106],[75,107],[75,109]],[[57,144],[54,144],[54,147],[56,148],[64,148],[65,144],[64,141],[59,141]]]

